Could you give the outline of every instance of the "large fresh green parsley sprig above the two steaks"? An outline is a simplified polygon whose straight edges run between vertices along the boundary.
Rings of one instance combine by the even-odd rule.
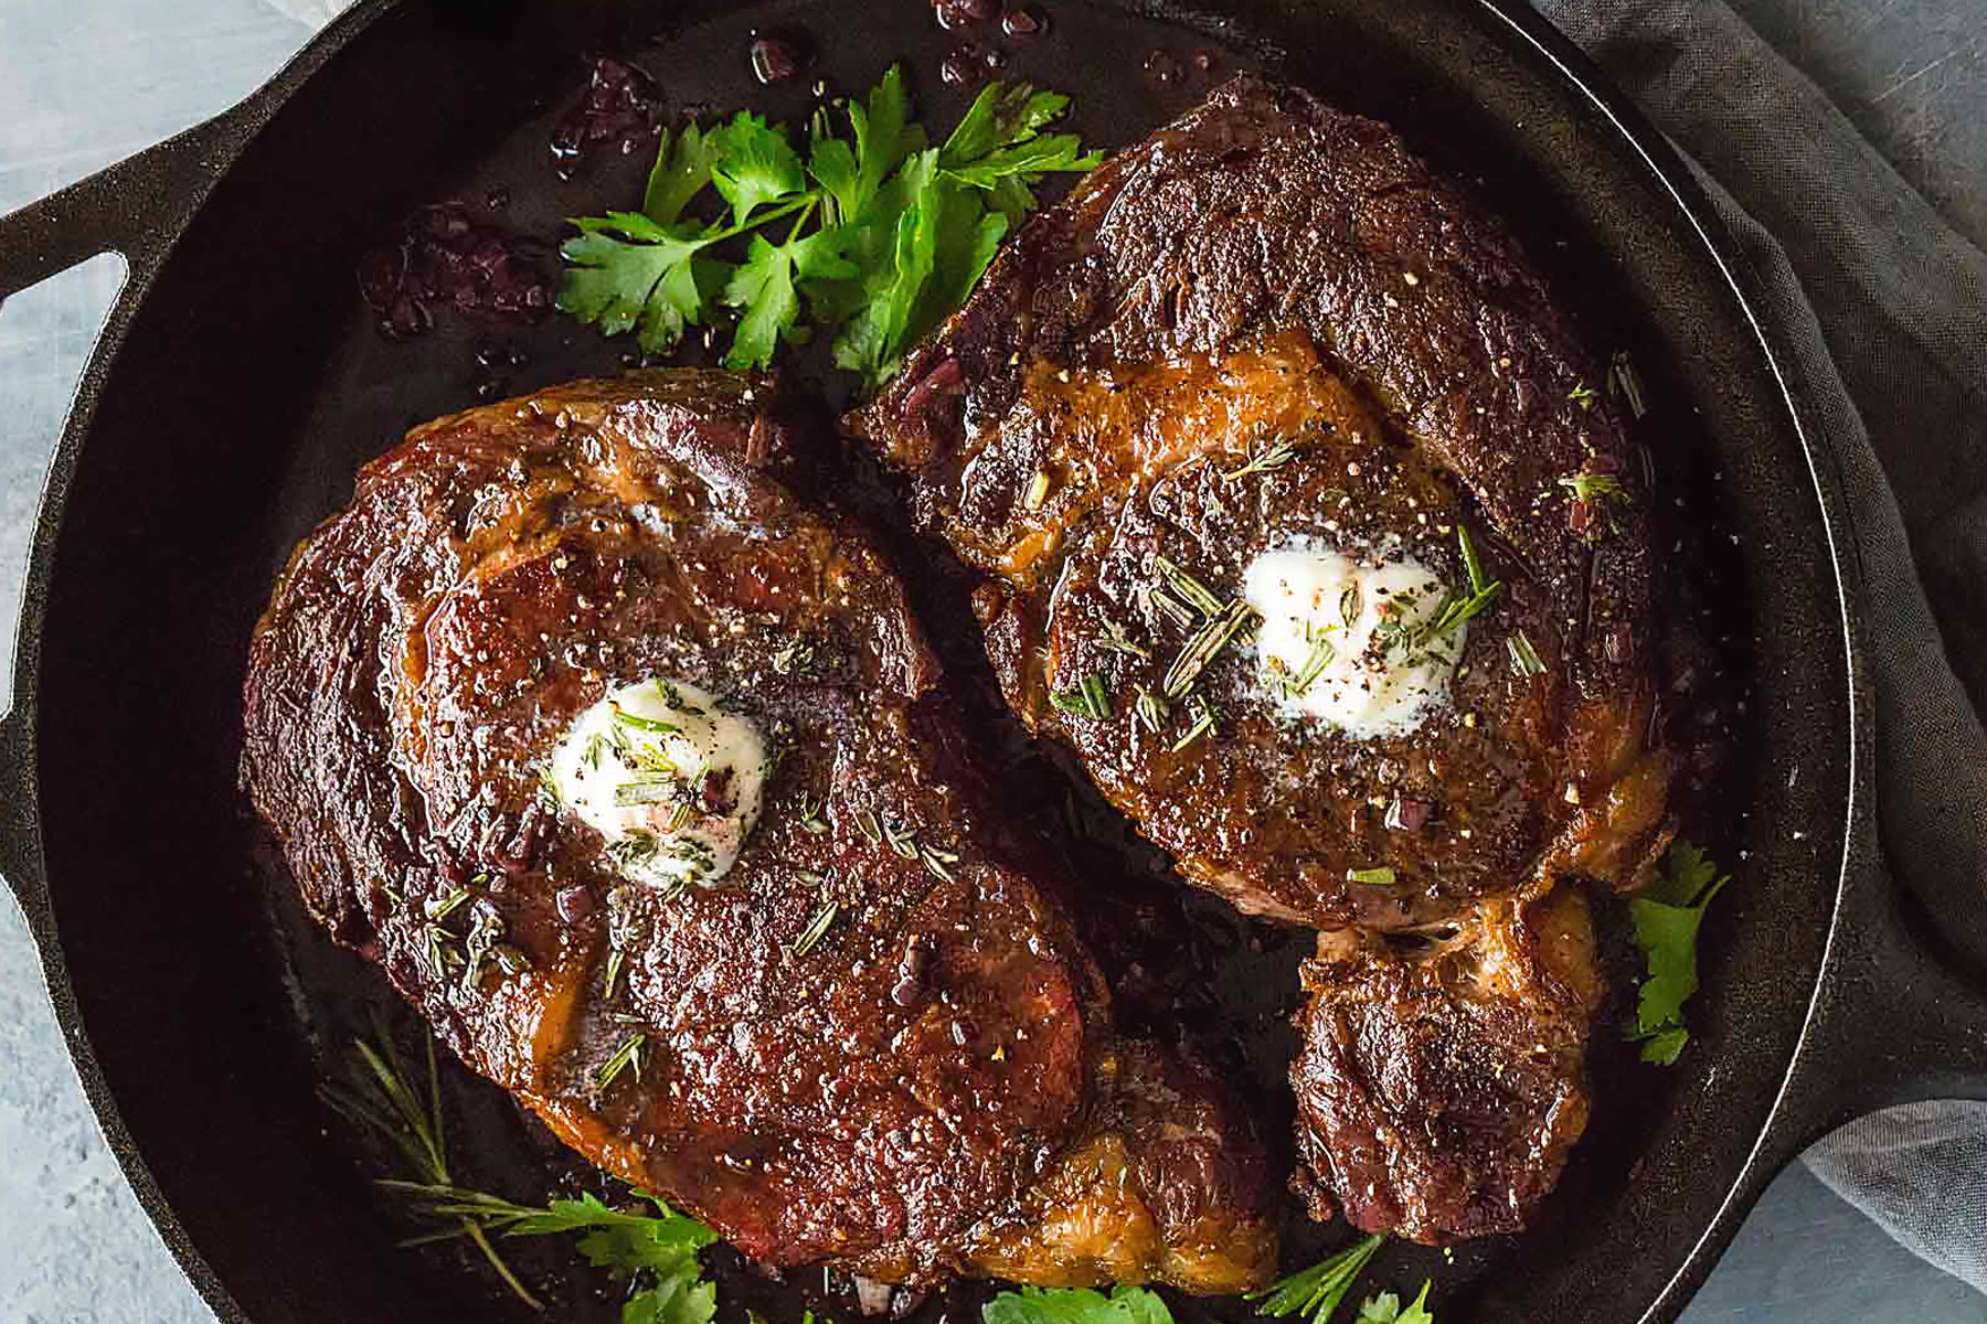
[[[823,331],[835,361],[874,385],[972,294],[1045,175],[1097,165],[1073,133],[1043,131],[1067,105],[992,83],[932,147],[892,66],[850,99],[846,131],[815,113],[805,159],[749,111],[664,133],[640,212],[572,220],[558,308],[660,353],[725,306],[737,310],[727,367],[765,367],[781,341]],[[697,220],[707,189],[725,214]]]

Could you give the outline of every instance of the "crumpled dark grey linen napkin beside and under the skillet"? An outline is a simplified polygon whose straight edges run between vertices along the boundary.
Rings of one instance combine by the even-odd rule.
[[[1987,969],[1987,254],[1723,2],[1534,2],[1693,159],[1794,330],[1862,562],[1884,858]],[[1987,1104],[1884,1110],[1802,1161],[1987,1292]]]

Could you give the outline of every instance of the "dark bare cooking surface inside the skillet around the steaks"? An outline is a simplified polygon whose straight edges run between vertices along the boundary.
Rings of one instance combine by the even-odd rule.
[[[105,383],[56,550],[40,786],[81,1026],[177,1217],[169,1237],[223,1314],[527,1318],[449,1251],[393,1249],[405,1227],[368,1189],[368,1155],[314,1100],[328,1058],[370,1004],[389,1000],[296,917],[242,810],[234,758],[248,629],[284,554],[348,498],[354,470],[411,423],[475,403],[493,381],[479,349],[519,351],[495,373],[515,391],[622,367],[628,345],[558,318],[519,328],[445,312],[429,335],[393,343],[354,280],[360,256],[423,202],[505,189],[493,218],[540,236],[560,216],[630,204],[640,151],[596,153],[570,183],[552,173],[548,137],[586,52],[642,64],[676,111],[751,103],[787,119],[811,105],[811,77],[858,91],[902,60],[928,121],[950,123],[970,93],[938,69],[970,40],[982,56],[1003,52],[1007,77],[1077,91],[1075,125],[1103,145],[1135,141],[1230,71],[1268,67],[1397,123],[1480,181],[1604,347],[1635,353],[1659,401],[1667,494],[1693,528],[1719,530],[1717,619],[1751,673],[1751,758],[1725,788],[1743,810],[1713,828],[1739,879],[1709,927],[1691,1052],[1669,1072],[1602,1058],[1602,1122],[1544,1227],[1452,1264],[1383,1258],[1367,1284],[1413,1288],[1431,1272],[1445,1320],[1600,1324],[1641,1318],[1689,1258],[1786,1074],[1828,933],[1848,794],[1826,534],[1741,310],[1659,181],[1490,8],[1045,10],[1045,38],[1005,40],[997,26],[946,34],[922,0],[403,4],[282,107],[167,262]],[[803,38],[809,75],[757,87],[755,28]],[[1252,933],[1196,913],[1208,943],[1246,951]],[[1290,949],[1254,937],[1270,965]],[[1288,998],[1268,975],[1248,987],[1250,969],[1230,961],[1224,981],[1240,985],[1242,1014],[1274,1020]],[[465,1177],[531,1197],[568,1167],[495,1090],[459,1070],[449,1082]],[[1268,1086],[1262,1106],[1288,1108]],[[560,1290],[568,1257],[517,1260]],[[590,1284],[566,1284],[572,1318],[614,1318]],[[819,1286],[791,1276],[735,1300],[775,1324],[803,1304],[852,1314]],[[966,1298],[928,1312],[972,1318]]]

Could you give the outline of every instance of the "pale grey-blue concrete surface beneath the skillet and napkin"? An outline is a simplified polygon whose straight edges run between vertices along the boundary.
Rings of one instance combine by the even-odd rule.
[[[1983,0],[1737,6],[1955,226],[1987,238]],[[0,212],[213,113],[306,38],[260,0],[0,0]],[[42,468],[119,280],[117,260],[97,258],[0,312],[0,637],[12,637]],[[26,927],[0,903],[0,1322],[211,1318],[125,1189]],[[1685,1316],[1741,1318],[1975,1324],[1987,1300],[1794,1167]]]

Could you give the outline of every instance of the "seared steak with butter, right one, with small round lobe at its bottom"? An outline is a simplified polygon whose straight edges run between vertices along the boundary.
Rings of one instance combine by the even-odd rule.
[[[1514,1229],[1552,1185],[1578,1052],[1524,1068],[1552,1084],[1522,1110],[1566,1100],[1554,1143],[1399,1141],[1470,1189],[1367,1191],[1387,1165],[1337,1153],[1325,1096],[1373,1118],[1347,1062],[1486,1006],[1411,1006],[1482,959],[1484,907],[1627,885],[1665,842],[1645,459],[1602,387],[1504,226],[1393,131],[1238,77],[1037,216],[852,419],[988,574],[1007,703],[1188,879],[1443,945],[1315,971],[1303,1145],[1365,1227]],[[1584,1038],[1580,1002],[1514,998]],[[1389,1106],[1512,1070],[1526,1036],[1486,1026]]]

